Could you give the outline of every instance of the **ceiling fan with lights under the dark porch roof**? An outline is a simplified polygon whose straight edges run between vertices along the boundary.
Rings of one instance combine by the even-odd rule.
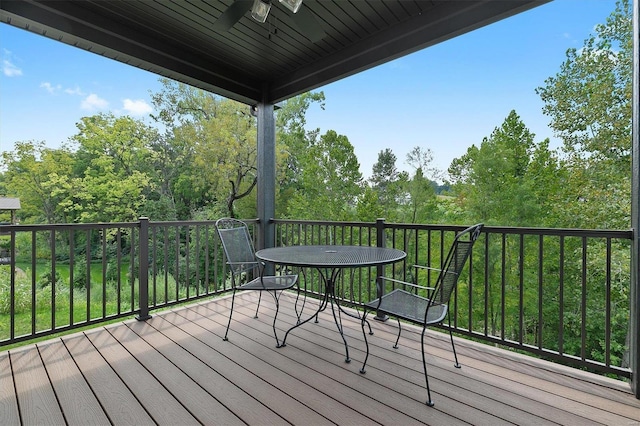
[[[322,40],[325,32],[316,20],[313,13],[302,6],[302,0],[278,0],[278,2],[293,12],[290,18],[306,38],[313,43]],[[258,22],[265,22],[271,9],[271,0],[235,0],[222,12],[220,18],[213,24],[213,28],[219,31],[228,31],[243,16],[251,10],[251,16]]]

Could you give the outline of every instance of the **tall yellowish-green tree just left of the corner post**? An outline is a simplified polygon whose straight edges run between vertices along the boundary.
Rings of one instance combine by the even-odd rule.
[[[177,159],[179,167],[163,172],[166,197],[178,204],[179,216],[199,211],[237,216],[238,202],[249,197],[257,183],[256,123],[249,107],[161,81],[162,90],[152,95],[158,111],[153,118],[167,134],[157,152],[164,154],[161,159]],[[255,210],[242,215],[254,216]]]

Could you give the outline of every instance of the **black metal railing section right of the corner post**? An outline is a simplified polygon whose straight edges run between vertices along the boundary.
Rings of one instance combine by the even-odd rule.
[[[407,253],[403,262],[341,277],[340,296],[355,306],[378,296],[379,275],[414,282],[414,264],[438,267],[465,228],[382,220],[273,222],[276,245],[365,244]],[[453,331],[629,378],[631,238],[631,231],[484,227],[454,294]],[[310,289],[321,291],[314,271],[305,275]],[[423,284],[436,278],[430,274]]]

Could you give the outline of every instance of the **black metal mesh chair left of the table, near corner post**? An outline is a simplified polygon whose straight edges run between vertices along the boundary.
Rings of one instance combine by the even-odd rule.
[[[247,224],[231,218],[222,218],[216,221],[216,229],[224,248],[227,258],[227,265],[231,271],[231,285],[233,286],[233,295],[231,297],[231,311],[229,312],[229,322],[227,330],[224,333],[223,340],[228,340],[229,326],[231,325],[231,317],[233,315],[233,306],[235,303],[236,292],[244,290],[255,290],[260,292],[258,298],[258,306],[256,307],[255,318],[258,317],[260,302],[262,300],[262,292],[267,291],[273,296],[276,303],[276,313],[273,316],[273,334],[276,338],[276,346],[280,346],[278,334],[276,332],[276,319],[280,309],[279,299],[282,291],[292,288],[298,281],[298,275],[264,275],[264,263],[258,261],[253,248],[251,234]],[[243,276],[251,276],[258,272],[258,276],[250,281],[241,284]]]

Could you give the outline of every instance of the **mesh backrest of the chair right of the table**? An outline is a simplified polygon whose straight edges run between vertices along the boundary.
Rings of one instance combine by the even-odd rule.
[[[449,304],[451,293],[453,293],[453,289],[458,283],[460,273],[471,254],[473,244],[478,239],[480,232],[482,232],[483,226],[484,225],[482,223],[479,223],[477,225],[470,226],[456,235],[451,249],[449,250],[449,254],[445,259],[444,265],[442,265],[442,272],[440,272],[440,276],[436,282],[435,290],[431,295],[429,305]]]

